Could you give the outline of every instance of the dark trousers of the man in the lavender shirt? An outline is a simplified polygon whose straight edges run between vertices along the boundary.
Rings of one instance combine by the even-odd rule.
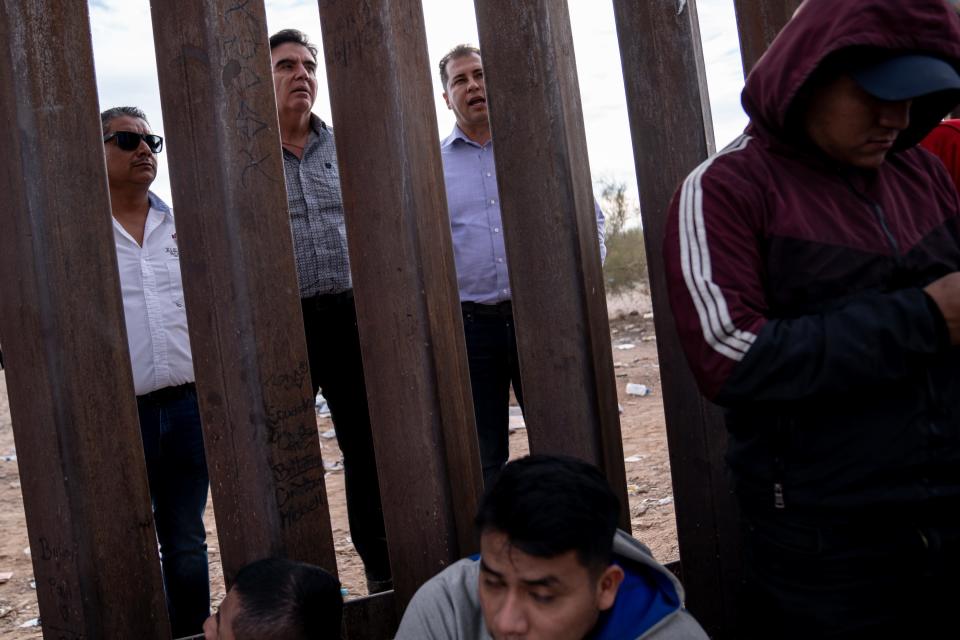
[[[513,308],[509,302],[464,302],[461,307],[483,483],[490,486],[510,457],[511,383],[517,402],[523,407]]]

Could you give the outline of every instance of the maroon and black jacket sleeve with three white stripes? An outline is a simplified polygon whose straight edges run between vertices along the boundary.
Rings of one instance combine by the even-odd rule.
[[[766,182],[758,177],[764,167],[743,151],[748,140],[687,177],[664,235],[670,303],[704,395],[723,406],[836,396],[916,375],[949,348],[919,286],[864,290],[819,313],[771,313]]]

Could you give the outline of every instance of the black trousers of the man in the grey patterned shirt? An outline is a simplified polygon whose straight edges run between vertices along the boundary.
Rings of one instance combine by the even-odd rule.
[[[301,306],[313,392],[323,392],[343,452],[350,537],[367,578],[388,580],[390,557],[353,292],[305,298]]]

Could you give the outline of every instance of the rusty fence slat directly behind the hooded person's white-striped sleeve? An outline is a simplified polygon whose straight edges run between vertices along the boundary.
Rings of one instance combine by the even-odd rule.
[[[666,211],[687,174],[714,151],[696,3],[614,1],[653,297],[677,537],[691,612],[731,637],[739,582],[736,504],[717,407],[693,379],[666,292]]]

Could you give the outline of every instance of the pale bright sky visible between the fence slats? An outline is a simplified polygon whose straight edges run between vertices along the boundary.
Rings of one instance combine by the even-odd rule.
[[[141,107],[153,128],[163,133],[157,86],[149,0],[90,0],[97,87],[102,109],[122,104]],[[633,148],[617,46],[613,4],[598,0],[568,0],[583,100],[584,124],[594,180],[622,181],[636,199]],[[736,137],[746,124],[740,109],[743,88],[733,0],[699,0],[707,81],[710,88],[717,148]],[[287,27],[305,31],[318,45],[320,19],[316,0],[266,0],[270,33]],[[441,97],[433,66],[453,45],[476,43],[472,0],[423,0],[431,74],[440,137],[453,127],[453,117]],[[320,47],[321,55],[323,47]],[[326,74],[320,64],[320,91],[314,108],[330,121]],[[336,126],[336,123],[332,123]],[[154,190],[170,200],[165,154]]]

